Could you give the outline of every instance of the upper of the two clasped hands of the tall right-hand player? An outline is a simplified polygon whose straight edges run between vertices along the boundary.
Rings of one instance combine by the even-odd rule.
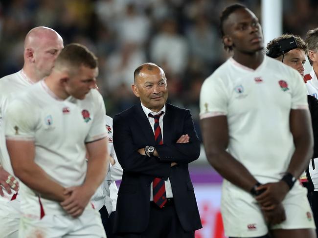
[[[256,188],[256,190],[264,190],[255,199],[262,208],[279,204],[289,191],[288,185],[284,181],[265,183]]]

